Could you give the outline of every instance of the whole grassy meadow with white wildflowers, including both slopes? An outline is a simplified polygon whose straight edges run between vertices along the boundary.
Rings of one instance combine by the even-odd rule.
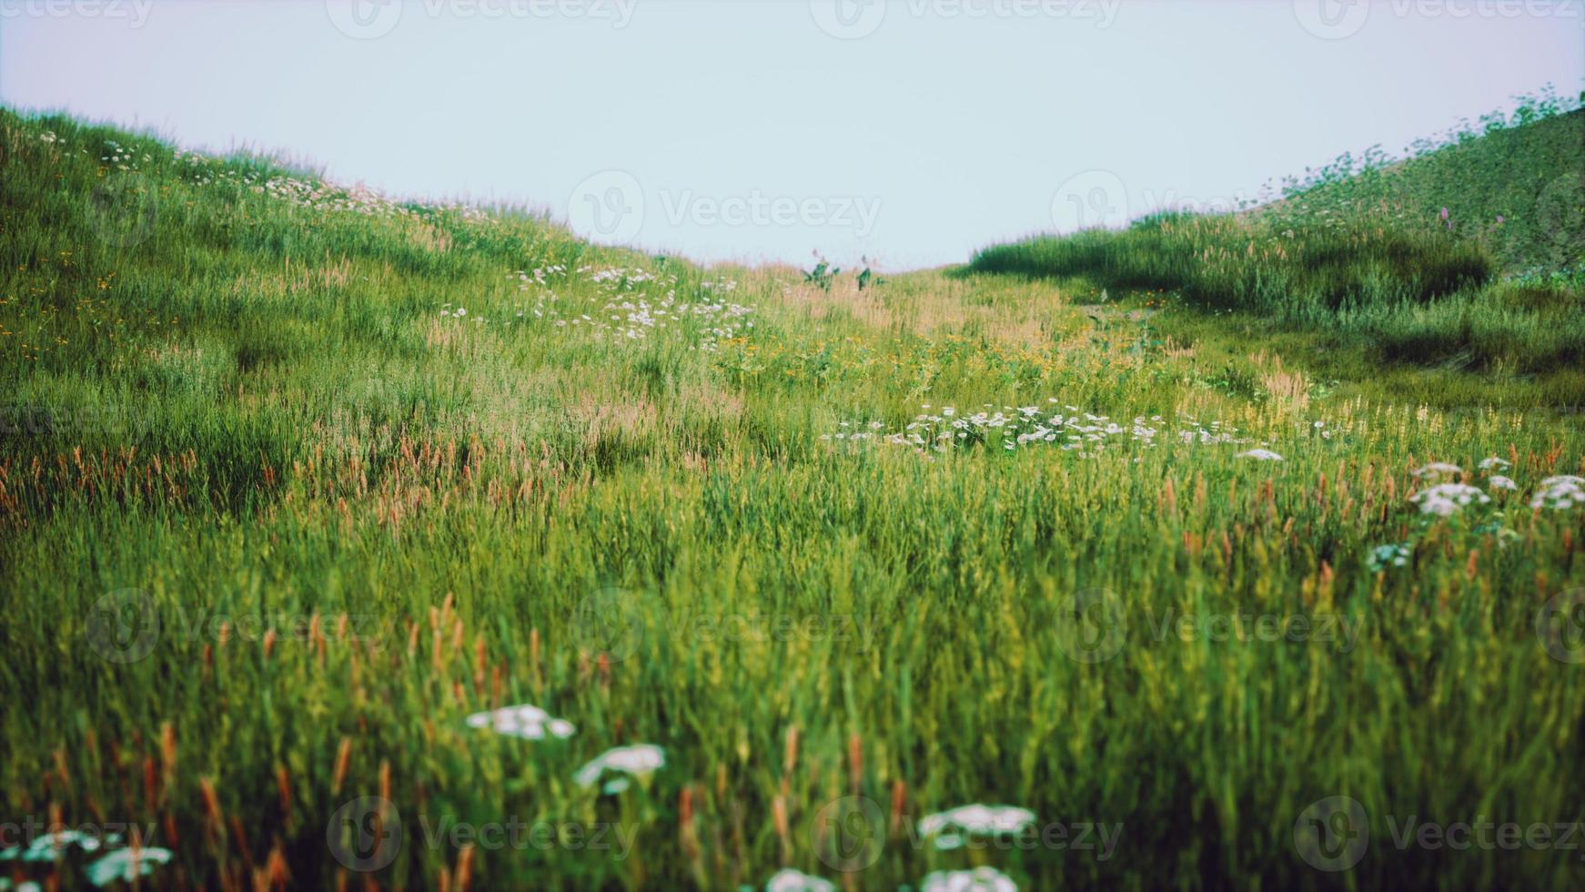
[[[861,288],[0,109],[0,889],[1577,887],[1582,122]]]

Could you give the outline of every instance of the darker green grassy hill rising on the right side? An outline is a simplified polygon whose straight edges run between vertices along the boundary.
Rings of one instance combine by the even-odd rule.
[[[1346,155],[1249,212],[1033,238],[970,269],[1235,312],[1224,330],[1254,320],[1246,342],[1284,341],[1331,379],[1476,372],[1417,388],[1433,404],[1585,404],[1585,111],[1544,93],[1484,120],[1407,160]],[[1186,314],[1162,326],[1186,341],[1208,328]]]

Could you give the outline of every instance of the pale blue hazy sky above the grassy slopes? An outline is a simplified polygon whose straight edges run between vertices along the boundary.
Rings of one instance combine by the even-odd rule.
[[[0,103],[701,261],[1228,208],[1553,82],[1585,0],[0,0]]]

